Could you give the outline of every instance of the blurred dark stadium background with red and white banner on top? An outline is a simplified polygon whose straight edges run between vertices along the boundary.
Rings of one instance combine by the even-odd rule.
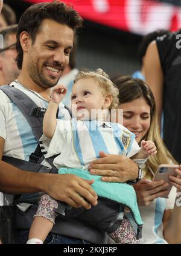
[[[51,2],[51,0],[49,0]],[[4,0],[17,19],[32,3],[45,0]],[[137,49],[142,35],[181,27],[179,0],[69,0],[84,18],[78,39],[77,67],[101,67],[110,76],[139,69]]]

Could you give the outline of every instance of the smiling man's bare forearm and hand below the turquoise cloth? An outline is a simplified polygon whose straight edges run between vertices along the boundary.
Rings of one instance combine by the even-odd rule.
[[[4,142],[0,136],[0,191],[7,194],[44,192],[73,207],[83,206],[86,209],[90,208],[90,204],[97,204],[97,195],[90,186],[94,180],[85,181],[71,174],[34,173],[20,170],[1,160]]]

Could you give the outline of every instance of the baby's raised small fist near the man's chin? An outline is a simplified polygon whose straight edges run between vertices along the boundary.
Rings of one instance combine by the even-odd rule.
[[[51,101],[53,103],[59,104],[64,98],[64,96],[66,95],[66,92],[67,90],[65,86],[62,86],[61,84],[57,84],[51,89]]]

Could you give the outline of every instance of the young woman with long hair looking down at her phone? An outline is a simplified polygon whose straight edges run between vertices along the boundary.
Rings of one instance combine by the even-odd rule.
[[[144,81],[130,76],[116,79],[115,84],[119,89],[118,109],[123,110],[123,125],[135,133],[138,144],[151,140],[157,147],[157,154],[145,163],[144,178],[134,186],[144,220],[141,243],[181,243],[181,207],[174,205],[176,193],[181,191],[181,168],[175,170],[177,177],[170,176],[174,187],[168,198],[164,198],[168,184],[151,181],[159,164],[176,163],[160,138],[153,93]]]

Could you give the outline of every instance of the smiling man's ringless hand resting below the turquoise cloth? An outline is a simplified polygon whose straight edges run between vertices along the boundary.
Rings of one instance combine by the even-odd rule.
[[[48,181],[45,192],[56,200],[75,208],[90,209],[91,205],[97,205],[97,194],[90,186],[94,180],[83,180],[72,174],[52,174]]]

